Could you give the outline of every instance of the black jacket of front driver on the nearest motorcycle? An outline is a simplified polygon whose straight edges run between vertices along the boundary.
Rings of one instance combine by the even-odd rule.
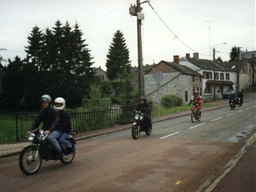
[[[38,128],[38,126],[43,122],[42,129],[44,131],[54,131],[60,130],[58,129],[58,125],[60,124],[60,112],[56,111],[50,106],[47,109],[42,109],[39,115],[36,117],[35,122],[30,127],[30,131]]]

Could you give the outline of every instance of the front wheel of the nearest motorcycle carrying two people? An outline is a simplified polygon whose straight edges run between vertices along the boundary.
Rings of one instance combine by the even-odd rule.
[[[33,175],[40,170],[42,159],[38,153],[38,147],[30,145],[20,152],[20,170],[26,175]]]

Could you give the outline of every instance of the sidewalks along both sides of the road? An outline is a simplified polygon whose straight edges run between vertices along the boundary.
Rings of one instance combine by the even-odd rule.
[[[255,93],[248,95],[244,98],[244,102],[248,100],[255,100]],[[228,100],[216,100],[215,102],[209,102],[209,104],[214,104],[214,106],[209,108],[203,108],[204,111],[211,111],[218,108],[225,108],[229,106]],[[152,123],[161,122],[163,120],[177,118],[179,116],[190,115],[190,111],[182,111],[180,113],[174,113],[172,115],[158,116],[152,119]],[[111,132],[122,131],[125,129],[131,129],[132,124],[116,125],[114,127],[108,127],[106,129],[99,129],[90,132],[83,132],[76,134],[74,138],[78,140],[84,140],[86,138],[92,138],[102,134],[109,134]],[[216,179],[209,188],[206,189],[207,192],[210,191],[251,191],[255,192],[255,140],[256,134],[253,134],[244,145],[244,148],[237,153],[236,158],[232,164],[225,170],[223,174]],[[13,143],[0,145],[0,159],[3,157],[13,156],[19,154],[26,143]]]

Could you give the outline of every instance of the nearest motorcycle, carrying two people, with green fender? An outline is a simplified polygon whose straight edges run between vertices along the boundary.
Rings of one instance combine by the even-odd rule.
[[[43,130],[30,131],[28,134],[28,140],[31,141],[26,147],[22,149],[19,157],[20,170],[26,175],[33,175],[37,173],[42,165],[42,160],[58,160],[56,159],[56,153],[51,143],[47,141],[47,135]],[[60,161],[63,164],[71,163],[76,154],[75,144],[76,141],[73,138],[74,134],[69,134],[67,141],[72,144],[72,151],[68,152],[63,144],[61,147]]]

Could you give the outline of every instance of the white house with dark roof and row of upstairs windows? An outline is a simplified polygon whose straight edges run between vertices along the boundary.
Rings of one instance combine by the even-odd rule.
[[[202,95],[204,99],[212,99],[214,90],[216,98],[223,98],[223,93],[236,90],[236,72],[230,69],[223,63],[218,61],[199,59],[198,53],[193,53],[193,58],[190,54],[180,58],[180,65],[185,65],[203,76],[202,79]],[[213,74],[215,72],[215,79]]]

